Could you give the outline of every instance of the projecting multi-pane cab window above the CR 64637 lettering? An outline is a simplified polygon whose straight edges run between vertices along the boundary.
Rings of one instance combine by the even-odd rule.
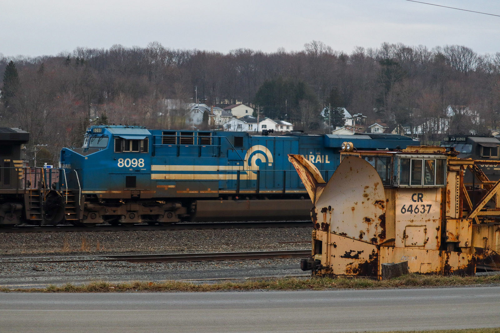
[[[446,160],[436,158],[399,159],[399,186],[444,186]]]

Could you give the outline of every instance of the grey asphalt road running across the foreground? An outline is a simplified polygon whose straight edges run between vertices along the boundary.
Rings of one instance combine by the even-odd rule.
[[[0,332],[363,332],[500,327],[500,287],[0,294]]]

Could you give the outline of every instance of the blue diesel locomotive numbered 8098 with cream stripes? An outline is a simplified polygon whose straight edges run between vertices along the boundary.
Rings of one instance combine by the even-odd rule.
[[[92,126],[81,148],[61,150],[64,172],[52,191],[65,203],[49,207],[64,206],[63,220],[86,226],[307,220],[312,205],[288,154],[303,155],[329,179],[345,141],[362,150],[419,144],[391,134],[261,136]],[[375,167],[390,178],[387,166]]]

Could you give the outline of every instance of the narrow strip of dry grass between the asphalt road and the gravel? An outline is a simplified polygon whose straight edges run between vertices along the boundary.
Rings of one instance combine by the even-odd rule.
[[[0,287],[0,292],[35,293],[107,293],[107,292],[215,292],[231,290],[328,290],[328,289],[373,289],[373,288],[414,288],[414,287],[452,287],[480,284],[498,284],[500,275],[480,277],[437,276],[408,274],[384,281],[363,278],[282,278],[260,281],[221,282],[214,284],[194,284],[190,282],[130,282],[109,283],[95,281],[88,284],[62,286],[50,285],[46,288]]]

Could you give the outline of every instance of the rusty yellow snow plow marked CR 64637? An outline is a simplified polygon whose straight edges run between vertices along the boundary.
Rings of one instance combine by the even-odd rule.
[[[435,146],[346,151],[327,183],[301,155],[288,155],[314,204],[312,253],[301,269],[377,279],[394,276],[384,269],[391,264],[403,273],[500,271],[500,181],[456,155]],[[474,184],[463,182],[466,169]]]

